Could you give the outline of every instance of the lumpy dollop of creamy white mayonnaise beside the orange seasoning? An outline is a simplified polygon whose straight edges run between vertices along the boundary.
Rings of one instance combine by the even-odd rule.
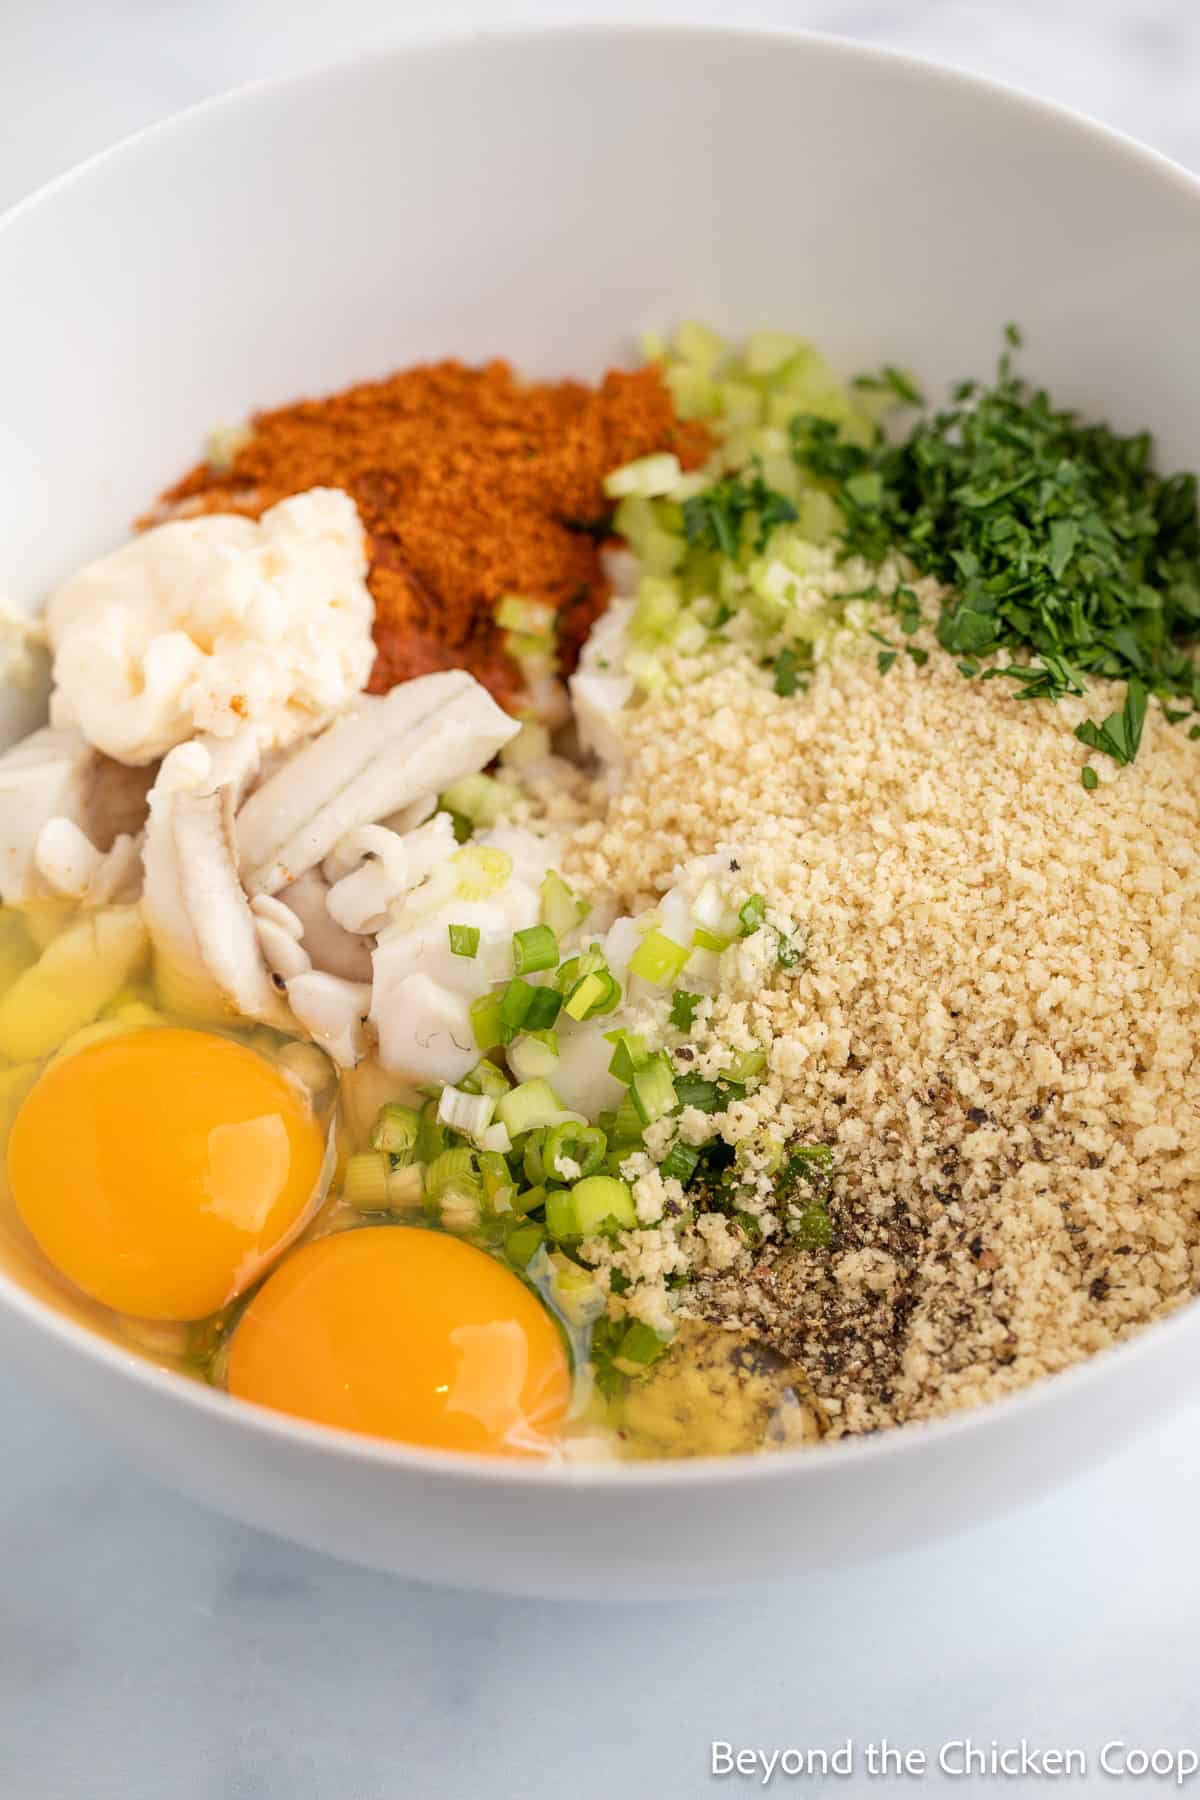
[[[365,688],[372,617],[347,493],[311,488],[257,522],[178,518],[50,594],[50,718],[122,763],[243,725],[286,745]]]

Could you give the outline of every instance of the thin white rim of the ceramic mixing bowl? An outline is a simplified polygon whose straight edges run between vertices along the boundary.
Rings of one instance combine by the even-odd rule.
[[[685,20],[637,22],[626,18],[578,23],[513,22],[486,27],[473,27],[470,23],[414,27],[389,36],[378,45],[362,49],[353,56],[333,58],[331,61],[288,74],[263,76],[239,83],[130,131],[113,144],[97,149],[81,162],[41,182],[29,194],[0,209],[0,232],[5,232],[43,203],[52,202],[56,194],[81,185],[94,173],[110,166],[117,167],[122,160],[137,157],[144,149],[166,146],[173,137],[205,126],[210,117],[218,117],[227,108],[272,103],[277,97],[300,94],[306,88],[329,88],[333,83],[353,85],[363,70],[383,61],[453,58],[477,49],[486,52],[489,49],[520,49],[538,43],[570,47],[617,38],[631,40],[637,45],[691,41],[698,49],[711,47],[714,50],[730,43],[770,49],[788,47],[831,59],[874,65],[883,72],[896,72],[909,79],[934,83],[943,88],[966,88],[984,103],[1007,106],[1013,113],[1033,113],[1042,122],[1052,124],[1078,139],[1087,139],[1097,153],[1119,155],[1141,164],[1150,178],[1166,180],[1173,187],[1178,187],[1180,193],[1191,196],[1200,212],[1200,175],[1193,175],[1166,153],[1153,149],[1115,126],[1103,124],[1060,101],[1031,94],[1015,83],[981,76],[973,70],[918,56],[910,50],[874,45],[860,38],[828,31],[806,31],[792,25],[700,23]],[[1153,1319],[1135,1336],[1092,1352],[1081,1363],[1052,1375],[1042,1375],[1016,1393],[1000,1395],[995,1400],[986,1400],[939,1418],[914,1420],[864,1436],[840,1438],[815,1451],[811,1447],[797,1447],[757,1454],[696,1456],[687,1460],[547,1463],[466,1451],[439,1451],[387,1438],[371,1438],[336,1426],[295,1418],[254,1400],[237,1399],[201,1381],[189,1379],[176,1370],[164,1368],[149,1357],[135,1350],[126,1350],[90,1327],[77,1323],[31,1294],[4,1267],[0,1267],[0,1310],[22,1319],[29,1327],[32,1339],[56,1341],[65,1352],[76,1354],[85,1363],[99,1363],[117,1381],[130,1381],[135,1388],[140,1386],[162,1397],[167,1404],[191,1408],[198,1415],[210,1418],[218,1429],[227,1427],[245,1438],[266,1435],[281,1445],[336,1456],[358,1465],[394,1469],[398,1472],[407,1471],[428,1480],[444,1478],[452,1481],[486,1483],[493,1489],[502,1485],[516,1492],[527,1489],[531,1483],[536,1487],[549,1485],[558,1490],[579,1487],[673,1490],[694,1485],[741,1489],[747,1483],[763,1485],[766,1481],[793,1480],[820,1485],[822,1481],[838,1480],[844,1469],[907,1462],[912,1456],[919,1456],[925,1445],[950,1445],[961,1438],[973,1438],[981,1431],[986,1431],[991,1420],[997,1420],[997,1426],[1004,1420],[1016,1424],[1024,1417],[1036,1417],[1038,1413],[1070,1406],[1078,1391],[1106,1381],[1110,1373],[1119,1370],[1133,1370],[1139,1361],[1157,1355],[1159,1350],[1168,1350],[1171,1341],[1182,1339],[1200,1328],[1200,1296],[1196,1296],[1182,1303],[1169,1316]]]

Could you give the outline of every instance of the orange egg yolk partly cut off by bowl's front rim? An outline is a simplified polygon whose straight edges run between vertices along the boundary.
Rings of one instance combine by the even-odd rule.
[[[545,1456],[570,1399],[558,1327],[486,1251],[414,1226],[297,1249],[246,1307],[228,1391],[345,1431]]]

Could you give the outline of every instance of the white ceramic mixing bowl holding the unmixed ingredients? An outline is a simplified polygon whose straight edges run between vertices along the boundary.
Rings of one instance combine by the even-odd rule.
[[[1200,464],[1200,184],[1054,108],[804,36],[470,38],[257,86],[0,225],[0,581],[119,540],[207,428],[428,356],[596,373],[635,328],[799,329],[986,371]],[[11,700],[7,734],[25,729]],[[876,1555],[1047,1489],[1173,1406],[1200,1310],[984,1413],[828,1451],[540,1471],[306,1427],[0,1280],[0,1346],[144,1469],[407,1575],[648,1595]]]

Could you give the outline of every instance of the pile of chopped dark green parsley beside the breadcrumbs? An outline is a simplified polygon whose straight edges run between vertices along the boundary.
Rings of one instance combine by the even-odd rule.
[[[1020,344],[1015,328],[1006,340]],[[961,382],[898,443],[851,443],[811,414],[790,439],[797,464],[835,488],[847,556],[900,551],[950,589],[937,641],[964,675],[1007,653],[984,679],[1025,700],[1124,680],[1123,711],[1078,731],[1117,763],[1137,756],[1148,693],[1200,707],[1187,652],[1200,637],[1196,477],[1159,475],[1148,432],[1056,407],[1006,349],[991,385]],[[880,655],[880,670],[892,662]]]

